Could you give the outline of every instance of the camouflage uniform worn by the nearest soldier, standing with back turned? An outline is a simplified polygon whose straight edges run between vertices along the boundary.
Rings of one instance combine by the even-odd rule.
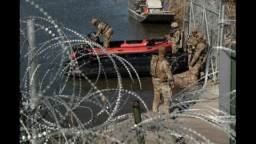
[[[160,48],[159,48],[160,49]],[[174,85],[174,79],[172,73],[169,71],[169,63],[168,61],[162,57],[161,55],[157,55],[159,58],[157,62],[156,73],[157,77],[152,76],[152,82],[154,85],[154,101],[153,101],[153,113],[154,115],[158,113],[158,107],[161,103],[161,93],[164,97],[164,114],[169,114],[170,109],[170,98],[172,96],[171,86],[167,83],[167,78],[169,79],[169,83]]]

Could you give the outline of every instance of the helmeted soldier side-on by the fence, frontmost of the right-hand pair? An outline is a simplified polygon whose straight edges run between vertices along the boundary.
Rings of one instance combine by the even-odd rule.
[[[203,34],[197,33],[196,35],[197,43],[193,47],[192,60],[189,63],[189,72],[191,75],[191,81],[193,83],[197,82],[199,70],[206,62],[206,57],[209,51],[209,46],[203,39]]]

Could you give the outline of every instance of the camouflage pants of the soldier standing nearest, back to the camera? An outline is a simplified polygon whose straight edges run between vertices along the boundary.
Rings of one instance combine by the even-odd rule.
[[[172,96],[171,87],[166,85],[154,85],[154,100],[153,100],[153,114],[158,113],[158,107],[161,103],[161,94],[164,97],[164,114],[170,114],[170,98]],[[170,92],[170,93],[169,93]]]

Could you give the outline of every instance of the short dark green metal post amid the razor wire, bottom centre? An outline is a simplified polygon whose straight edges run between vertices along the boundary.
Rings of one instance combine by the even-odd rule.
[[[141,122],[140,103],[139,102],[140,102],[139,100],[135,100],[135,101],[132,102],[135,124],[139,124]],[[140,131],[136,131],[136,132],[137,132],[137,135],[140,134]],[[143,135],[138,137],[138,142],[140,144],[144,144],[145,143]]]

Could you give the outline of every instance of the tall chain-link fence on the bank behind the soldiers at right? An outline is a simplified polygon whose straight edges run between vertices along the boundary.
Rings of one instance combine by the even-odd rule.
[[[191,29],[196,27],[198,32],[204,35],[206,42],[210,48],[220,46],[220,43],[227,44],[234,42],[236,33],[235,20],[225,21],[225,25],[221,25],[221,15],[230,15],[229,13],[221,13],[221,1],[185,1],[183,16],[184,38],[191,36]],[[224,18],[226,17],[224,16]],[[221,28],[225,29],[221,31]],[[231,30],[232,29],[232,30]],[[221,35],[222,34],[222,35]],[[221,36],[223,41],[221,41]],[[221,41],[221,42],[220,42]],[[218,61],[219,52],[215,51],[211,55],[211,69],[209,69],[210,77],[214,82],[218,78]]]

